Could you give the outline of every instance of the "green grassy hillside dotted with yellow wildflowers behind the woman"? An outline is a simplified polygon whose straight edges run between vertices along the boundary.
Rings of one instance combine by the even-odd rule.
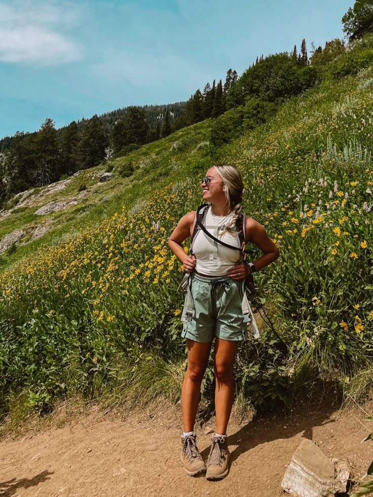
[[[48,408],[75,393],[111,403],[179,398],[181,267],[167,238],[201,203],[201,178],[214,162],[240,167],[245,212],[281,249],[255,279],[252,303],[265,303],[267,317],[258,316],[260,339],[240,348],[238,398],[273,406],[320,377],[346,398],[365,398],[373,378],[372,85],[372,67],[325,82],[220,148],[208,145],[209,121],[185,128],[113,161],[99,191],[93,170],[74,178],[71,189],[88,187],[85,204],[52,214],[58,228],[4,261],[3,412]],[[19,226],[35,222],[32,209],[16,214]],[[205,396],[211,387],[210,364]]]

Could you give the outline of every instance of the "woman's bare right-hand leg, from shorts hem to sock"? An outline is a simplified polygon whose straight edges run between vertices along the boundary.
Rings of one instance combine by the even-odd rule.
[[[234,401],[233,364],[238,341],[216,337],[215,342],[215,411],[216,433],[225,435]]]

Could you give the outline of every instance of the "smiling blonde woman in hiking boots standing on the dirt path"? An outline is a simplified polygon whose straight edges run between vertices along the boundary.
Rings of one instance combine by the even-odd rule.
[[[219,241],[239,248],[236,221],[241,216],[243,193],[240,171],[234,166],[213,166],[207,171],[202,187],[203,200],[210,204],[205,208],[205,228]],[[245,242],[254,243],[264,253],[251,265],[240,262],[238,250],[220,245],[201,229],[196,234],[195,218],[195,211],[185,214],[168,240],[170,249],[182,262],[184,272],[190,275],[193,300],[191,319],[183,319],[182,331],[188,344],[188,369],[181,392],[184,428],[181,461],[188,475],[206,471],[208,480],[218,480],[229,472],[226,432],[234,400],[233,364],[238,342],[246,340],[247,323],[241,310],[243,280],[252,271],[263,269],[277,259],[280,252],[264,227],[245,216]],[[193,233],[193,250],[187,255],[181,243]],[[196,444],[194,424],[201,381],[214,337],[216,433],[205,465]]]

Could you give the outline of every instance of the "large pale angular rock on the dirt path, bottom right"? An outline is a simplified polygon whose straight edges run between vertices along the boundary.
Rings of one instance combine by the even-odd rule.
[[[303,440],[295,450],[281,488],[299,497],[334,497],[346,492],[346,486],[335,479],[333,463],[311,440]]]

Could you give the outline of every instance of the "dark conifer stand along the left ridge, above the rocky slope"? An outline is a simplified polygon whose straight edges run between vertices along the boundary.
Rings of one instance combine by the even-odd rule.
[[[175,113],[161,109],[157,126],[150,128],[145,108],[126,108],[111,126],[95,114],[91,119],[56,130],[48,118],[35,133],[17,131],[0,154],[0,205],[19,192],[44,186],[80,169],[97,166],[107,157],[124,155],[146,142],[168,136],[173,131]],[[179,114],[180,115],[180,114]]]

